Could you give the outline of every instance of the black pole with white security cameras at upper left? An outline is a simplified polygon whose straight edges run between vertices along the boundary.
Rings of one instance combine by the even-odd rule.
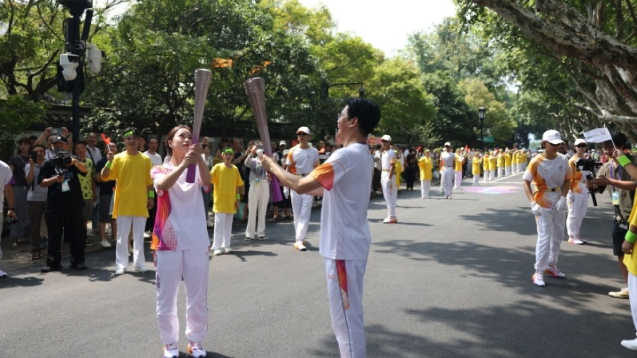
[[[58,0],[58,3],[68,8],[73,17],[64,22],[64,49],[66,53],[60,56],[58,66],[58,90],[73,94],[73,143],[80,140],[80,94],[84,90],[84,68],[82,57],[87,54],[89,69],[98,73],[101,69],[102,52],[94,45],[87,44],[90,32],[90,22],[93,18],[93,6],[90,0]],[[87,10],[88,9],[88,10]],[[86,11],[84,29],[80,37],[80,17]]]

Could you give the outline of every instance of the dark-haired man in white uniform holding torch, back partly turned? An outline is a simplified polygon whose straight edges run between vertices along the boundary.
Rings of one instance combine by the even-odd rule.
[[[367,213],[373,162],[366,141],[378,120],[376,104],[364,98],[348,100],[336,133],[343,148],[304,178],[285,173],[264,158],[264,166],[282,185],[324,196],[320,254],[325,260],[332,327],[341,358],[367,356],[362,293],[371,243]]]

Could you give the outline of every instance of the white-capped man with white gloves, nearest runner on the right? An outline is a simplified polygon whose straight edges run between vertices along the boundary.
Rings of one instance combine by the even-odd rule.
[[[564,236],[566,195],[573,173],[566,156],[557,152],[561,143],[563,141],[558,131],[544,132],[541,142],[544,153],[534,157],[522,175],[524,191],[538,229],[535,273],[531,280],[539,287],[546,286],[543,275],[545,271],[557,278],[566,277],[557,269],[557,258]],[[537,189],[535,193],[531,190],[531,182]]]

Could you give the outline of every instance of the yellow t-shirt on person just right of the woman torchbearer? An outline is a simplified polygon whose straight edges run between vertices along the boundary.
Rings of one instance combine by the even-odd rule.
[[[212,167],[210,183],[215,186],[212,211],[215,213],[234,214],[234,203],[237,201],[237,188],[243,186],[243,180],[236,166],[228,168],[225,163]]]

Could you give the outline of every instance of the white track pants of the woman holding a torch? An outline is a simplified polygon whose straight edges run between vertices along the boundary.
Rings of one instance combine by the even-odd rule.
[[[164,345],[179,339],[177,292],[186,289],[186,338],[200,342],[208,332],[208,247],[155,251],[157,323]]]

